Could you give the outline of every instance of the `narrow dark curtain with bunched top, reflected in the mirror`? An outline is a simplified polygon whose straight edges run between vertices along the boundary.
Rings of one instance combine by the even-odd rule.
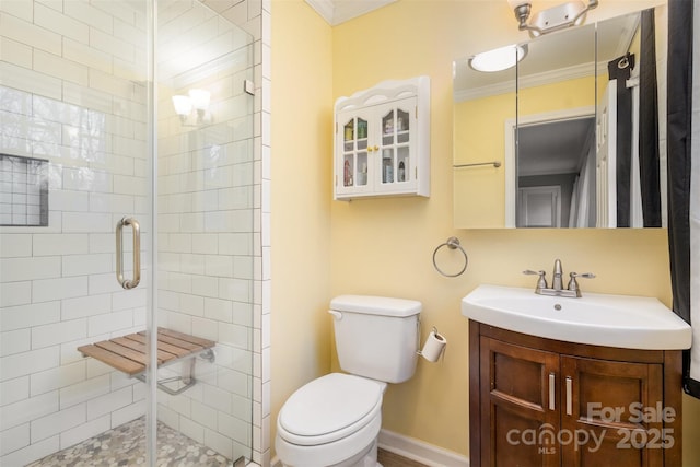
[[[608,62],[610,80],[617,80],[616,192],[617,226],[630,226],[630,180],[632,177],[632,91],[627,80],[634,68],[634,55]]]

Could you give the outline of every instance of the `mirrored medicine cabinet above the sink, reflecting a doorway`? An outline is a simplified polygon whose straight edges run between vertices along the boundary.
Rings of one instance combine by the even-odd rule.
[[[454,61],[454,225],[666,225],[665,7]],[[513,50],[515,55],[516,51]]]

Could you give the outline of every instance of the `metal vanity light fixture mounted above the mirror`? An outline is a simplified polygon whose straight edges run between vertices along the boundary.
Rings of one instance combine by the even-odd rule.
[[[530,1],[508,0],[508,2],[515,13],[518,28],[521,31],[529,31],[532,37],[570,26],[579,26],[585,21],[588,10],[593,10],[598,5],[598,0],[588,0],[588,4],[585,4],[581,0],[569,1],[536,13],[528,23],[527,20],[529,19],[533,8]]]

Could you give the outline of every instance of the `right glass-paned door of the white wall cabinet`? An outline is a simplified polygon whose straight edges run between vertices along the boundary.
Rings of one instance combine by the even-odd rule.
[[[372,122],[377,192],[401,192],[416,189],[418,174],[416,144],[418,138],[417,98],[410,97],[376,107]]]

